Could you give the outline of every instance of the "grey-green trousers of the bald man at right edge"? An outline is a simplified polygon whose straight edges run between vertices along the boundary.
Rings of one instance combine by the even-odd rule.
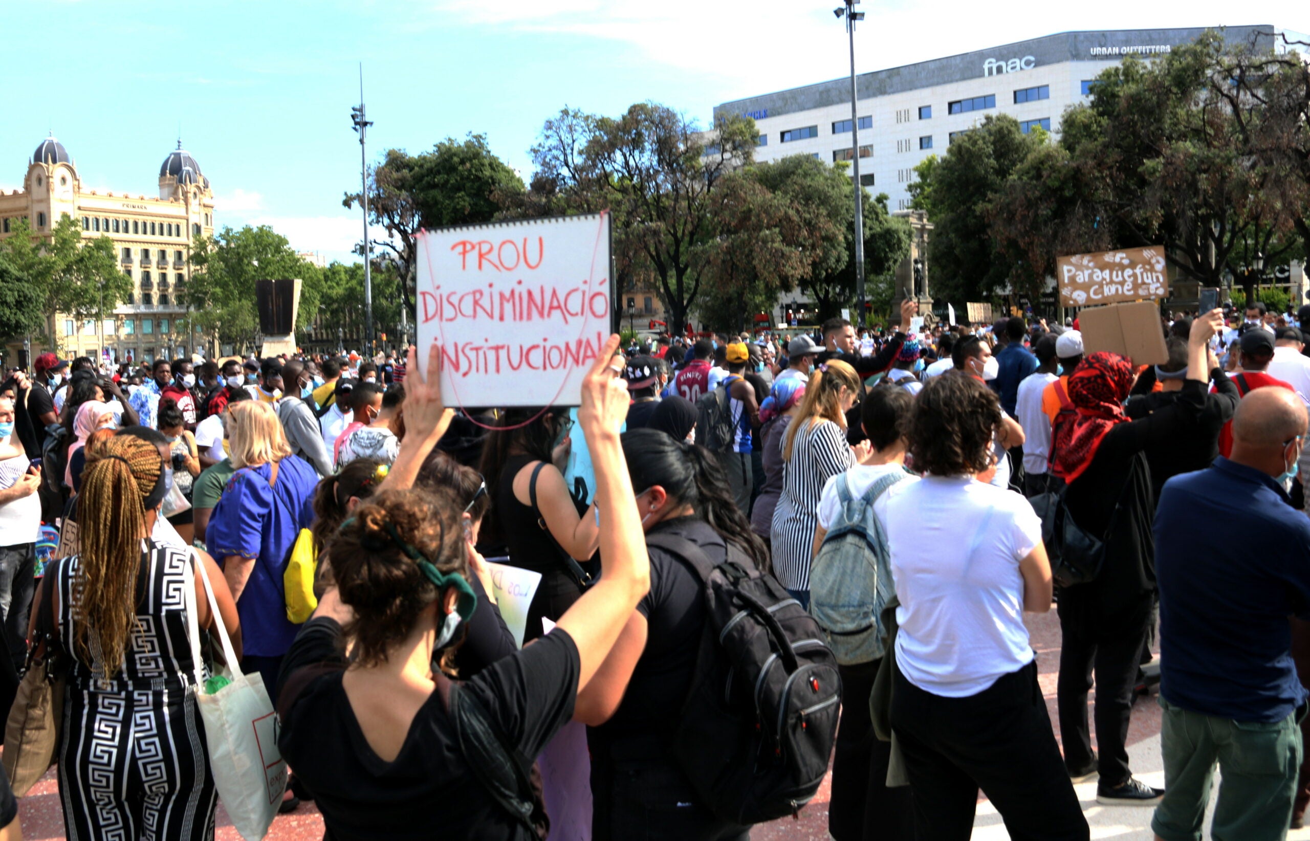
[[[1214,804],[1214,841],[1285,838],[1301,765],[1305,707],[1281,722],[1234,722],[1176,707],[1163,696],[1159,732],[1165,799],[1151,829],[1165,841],[1200,841],[1214,764],[1222,779]]]

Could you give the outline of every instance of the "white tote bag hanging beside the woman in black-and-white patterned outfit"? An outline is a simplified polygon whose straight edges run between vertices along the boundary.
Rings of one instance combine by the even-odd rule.
[[[245,841],[259,841],[267,834],[287,787],[287,764],[278,751],[278,714],[272,710],[269,690],[259,675],[242,675],[237,667],[237,655],[232,650],[228,629],[223,626],[210,574],[194,551],[191,561],[194,569],[200,571],[223,643],[223,655],[229,664],[223,673],[232,681],[214,694],[204,692],[195,579],[191,565],[187,565],[186,621],[191,637],[191,659],[195,663],[195,702],[210,744],[210,773],[214,774],[219,798],[228,810],[232,825]]]

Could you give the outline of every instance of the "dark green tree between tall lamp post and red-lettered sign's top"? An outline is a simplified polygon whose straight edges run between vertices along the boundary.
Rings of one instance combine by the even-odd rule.
[[[523,179],[491,152],[486,135],[469,134],[462,141],[447,138],[431,152],[414,156],[388,149],[369,173],[368,214],[388,236],[372,245],[389,252],[400,276],[407,279],[400,284],[403,307],[414,309],[419,229],[491,221],[523,193]],[[342,204],[359,202],[359,193],[347,193]],[[356,252],[363,254],[363,245]]]

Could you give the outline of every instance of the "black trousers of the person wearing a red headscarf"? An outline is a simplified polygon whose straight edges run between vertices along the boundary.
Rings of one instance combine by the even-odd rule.
[[[1061,603],[1062,604],[1062,603]],[[1065,765],[1070,772],[1091,765],[1091,734],[1087,730],[1087,692],[1096,675],[1096,770],[1100,785],[1114,789],[1128,782],[1128,719],[1133,711],[1133,686],[1146,639],[1145,621],[1131,629],[1085,635],[1060,612],[1060,680],[1057,706]]]

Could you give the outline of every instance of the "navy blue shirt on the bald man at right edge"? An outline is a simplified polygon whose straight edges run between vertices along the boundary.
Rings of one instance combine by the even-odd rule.
[[[1155,576],[1166,701],[1279,722],[1306,700],[1288,616],[1310,618],[1310,519],[1268,474],[1221,456],[1166,482]]]

